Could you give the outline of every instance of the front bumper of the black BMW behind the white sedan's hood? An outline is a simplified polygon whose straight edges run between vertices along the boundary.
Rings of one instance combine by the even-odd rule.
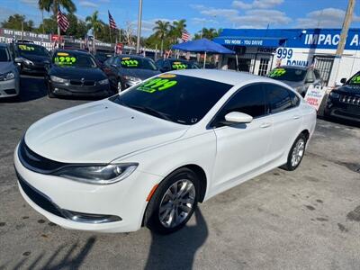
[[[65,85],[54,82],[49,83],[50,91],[61,96],[111,96],[114,92],[110,85]]]

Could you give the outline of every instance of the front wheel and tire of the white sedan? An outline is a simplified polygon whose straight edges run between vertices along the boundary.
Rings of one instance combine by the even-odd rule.
[[[159,234],[183,228],[197,207],[199,186],[198,177],[185,167],[167,176],[148,202],[144,224]]]

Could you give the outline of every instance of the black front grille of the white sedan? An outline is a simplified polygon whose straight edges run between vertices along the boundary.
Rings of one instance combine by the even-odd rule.
[[[41,174],[50,174],[67,165],[36,154],[31,148],[28,148],[24,139],[20,142],[18,156],[23,166]]]

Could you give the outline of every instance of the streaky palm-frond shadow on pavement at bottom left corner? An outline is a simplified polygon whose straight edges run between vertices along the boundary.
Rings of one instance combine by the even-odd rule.
[[[12,269],[26,268],[26,269],[77,269],[85,260],[90,250],[93,248],[96,238],[88,238],[85,245],[80,247],[80,250],[76,253],[78,249],[78,242],[73,244],[71,247],[68,247],[66,250],[66,245],[59,246],[53,254],[47,260],[42,260],[45,257],[45,252],[42,252],[38,257],[35,257],[31,260],[30,257],[23,257]],[[62,255],[63,253],[64,255]],[[53,263],[56,262],[56,263]],[[22,267],[26,264],[26,267]],[[0,266],[0,269],[10,269],[7,266],[7,263]]]

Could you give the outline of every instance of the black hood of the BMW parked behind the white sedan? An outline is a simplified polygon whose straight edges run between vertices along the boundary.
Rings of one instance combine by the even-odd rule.
[[[102,80],[107,76],[100,68],[81,67],[56,67],[52,66],[49,75],[59,76],[66,79]]]

